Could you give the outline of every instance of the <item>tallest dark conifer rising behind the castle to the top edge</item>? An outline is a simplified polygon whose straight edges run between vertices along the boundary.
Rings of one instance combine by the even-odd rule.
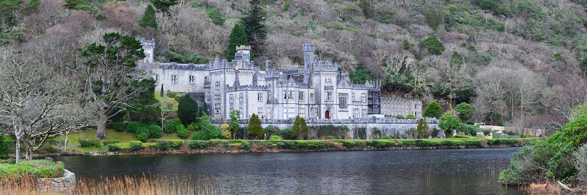
[[[251,9],[248,10],[245,18],[242,18],[242,24],[245,27],[247,33],[247,40],[251,44],[251,50],[256,55],[261,53],[261,45],[267,36],[265,29],[265,11],[261,6],[261,0],[251,0]],[[252,60],[252,58],[251,58]]]

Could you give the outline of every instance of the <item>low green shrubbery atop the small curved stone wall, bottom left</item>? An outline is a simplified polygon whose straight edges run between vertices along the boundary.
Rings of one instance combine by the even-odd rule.
[[[36,178],[62,177],[65,173],[62,162],[50,160],[21,160],[14,165],[0,166],[0,179],[22,179],[26,176]]]

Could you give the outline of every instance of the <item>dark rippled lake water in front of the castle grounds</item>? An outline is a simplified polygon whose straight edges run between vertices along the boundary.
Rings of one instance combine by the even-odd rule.
[[[231,194],[523,194],[497,183],[520,148],[55,156],[76,177],[210,175]]]

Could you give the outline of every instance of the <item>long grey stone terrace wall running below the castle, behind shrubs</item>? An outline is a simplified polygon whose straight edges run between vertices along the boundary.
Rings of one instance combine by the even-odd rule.
[[[318,119],[306,118],[306,125],[308,126],[347,126],[349,128],[348,134],[352,139],[358,128],[365,128],[367,139],[371,135],[370,131],[377,128],[381,131],[382,136],[392,136],[393,134],[405,134],[409,129],[416,129],[420,119],[395,119],[395,118],[352,118],[352,119]],[[438,119],[426,118],[430,131],[438,129]],[[261,126],[276,126],[279,129],[289,128],[294,125],[295,118],[290,119],[261,119]],[[212,119],[214,124],[227,123],[228,120]],[[248,119],[239,119],[241,126],[248,128]],[[440,136],[440,135],[439,135]],[[357,138],[358,139],[358,138]]]

